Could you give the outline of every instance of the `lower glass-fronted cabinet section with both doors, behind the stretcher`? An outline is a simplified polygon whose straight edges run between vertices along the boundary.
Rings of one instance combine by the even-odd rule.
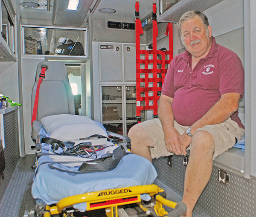
[[[127,136],[137,123],[135,85],[100,85],[100,89],[101,123],[107,130]],[[141,116],[144,121],[145,112],[141,112]]]

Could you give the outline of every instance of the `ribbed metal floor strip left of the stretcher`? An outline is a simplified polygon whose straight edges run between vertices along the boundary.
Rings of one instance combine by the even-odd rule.
[[[12,178],[0,200],[0,217],[23,217],[24,211],[35,207],[31,185],[35,171],[35,155],[20,157]]]

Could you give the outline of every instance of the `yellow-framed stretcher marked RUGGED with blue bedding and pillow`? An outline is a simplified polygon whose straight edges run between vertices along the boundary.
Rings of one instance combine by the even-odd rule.
[[[44,122],[45,119],[54,117],[53,121],[56,121],[56,116],[61,122],[61,125],[55,126],[58,132],[49,133],[52,126],[43,127],[36,141],[37,168],[32,196],[37,200],[37,205],[26,211],[24,217],[179,217],[186,212],[184,203],[166,200],[165,192],[152,184],[157,173],[151,162],[130,153],[125,149],[125,142],[114,144],[117,134],[112,133],[112,139],[109,139],[101,124],[76,115],[45,117],[41,121],[43,126],[48,124]],[[68,122],[68,128],[72,128],[70,122],[74,121],[74,117],[79,122],[86,119],[90,122],[87,127],[90,130],[96,127],[96,133],[81,140],[75,137],[68,141],[67,133],[60,135],[65,131],[61,126]],[[124,139],[124,136],[121,138]],[[80,149],[77,148],[79,145]],[[121,157],[117,154],[120,151]],[[114,168],[106,167],[110,160]],[[82,170],[84,164],[87,167]],[[90,165],[97,165],[96,169],[90,168]],[[175,209],[168,214],[163,205]]]

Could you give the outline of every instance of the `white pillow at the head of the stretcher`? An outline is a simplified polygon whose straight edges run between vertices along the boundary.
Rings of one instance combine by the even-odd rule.
[[[86,138],[94,134],[108,136],[105,129],[87,116],[51,115],[42,118],[41,123],[51,138],[63,142]]]

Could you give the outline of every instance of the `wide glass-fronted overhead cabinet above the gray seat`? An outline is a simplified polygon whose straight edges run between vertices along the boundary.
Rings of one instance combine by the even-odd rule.
[[[56,29],[23,26],[23,54],[87,55],[86,29]]]

